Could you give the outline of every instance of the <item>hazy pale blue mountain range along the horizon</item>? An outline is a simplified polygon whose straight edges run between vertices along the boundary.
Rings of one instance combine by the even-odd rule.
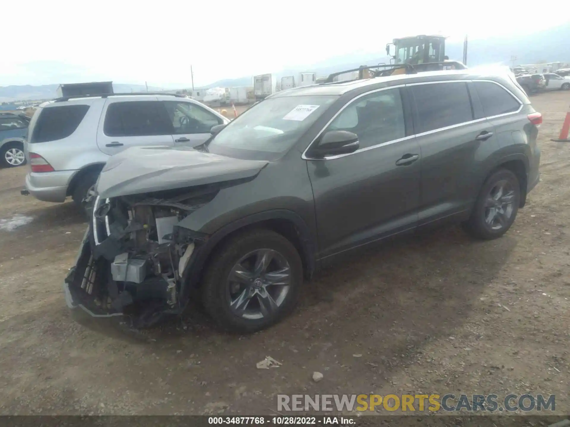
[[[385,54],[385,45],[378,46],[377,54],[359,54],[336,56],[315,64],[305,64],[302,67],[287,67],[280,71],[274,71],[276,79],[283,76],[296,76],[302,71],[314,71],[317,76],[343,69],[357,68],[363,64],[389,63]],[[450,59],[462,60],[463,43],[446,43],[446,55]],[[467,65],[481,65],[500,63],[512,65],[511,56],[516,55],[515,65],[534,64],[551,61],[565,61],[570,63],[570,25],[549,28],[517,37],[502,39],[479,39],[469,40],[467,51]],[[268,70],[259,70],[259,73]],[[253,76],[243,76],[237,79],[223,79],[214,81],[206,87],[240,87],[251,86]],[[56,96],[58,84],[31,86],[13,85],[0,87],[0,102],[14,100],[40,100],[51,99]],[[136,84],[113,84],[115,92],[143,92],[144,85]],[[149,87],[149,91],[162,91],[164,89]],[[173,89],[173,88],[170,88]],[[182,88],[180,88],[182,89]]]

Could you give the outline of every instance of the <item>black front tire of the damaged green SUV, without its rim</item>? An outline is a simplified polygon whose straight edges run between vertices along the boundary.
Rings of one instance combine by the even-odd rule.
[[[288,262],[290,284],[283,302],[267,317],[245,319],[230,308],[229,275],[246,254],[272,249]],[[225,242],[211,256],[202,281],[202,303],[207,313],[227,331],[254,332],[265,329],[290,314],[295,308],[303,284],[303,264],[295,246],[282,235],[268,229],[252,229]]]

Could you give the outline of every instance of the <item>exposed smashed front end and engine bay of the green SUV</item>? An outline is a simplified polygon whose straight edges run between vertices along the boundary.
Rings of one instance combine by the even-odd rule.
[[[180,314],[182,277],[200,236],[177,224],[210,202],[219,184],[160,194],[96,197],[78,260],[66,278],[76,305],[96,317],[125,315],[132,327]]]

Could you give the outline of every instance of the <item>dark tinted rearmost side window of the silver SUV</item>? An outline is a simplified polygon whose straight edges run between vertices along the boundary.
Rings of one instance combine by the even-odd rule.
[[[88,109],[89,105],[61,105],[43,108],[35,123],[30,143],[67,138],[78,128]]]

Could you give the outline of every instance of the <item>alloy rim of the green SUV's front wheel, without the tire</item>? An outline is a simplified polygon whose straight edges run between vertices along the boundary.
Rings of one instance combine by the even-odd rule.
[[[283,305],[291,288],[291,266],[273,249],[257,249],[240,258],[227,277],[227,301],[234,315],[268,318]]]

